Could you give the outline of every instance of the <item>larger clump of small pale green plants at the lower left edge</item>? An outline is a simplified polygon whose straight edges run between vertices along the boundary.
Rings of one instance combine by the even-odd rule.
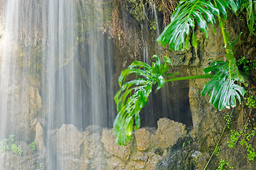
[[[21,156],[23,150],[21,149],[21,145],[16,145],[16,140],[14,135],[9,135],[8,138],[0,141],[0,152],[8,152],[12,151],[14,154]]]

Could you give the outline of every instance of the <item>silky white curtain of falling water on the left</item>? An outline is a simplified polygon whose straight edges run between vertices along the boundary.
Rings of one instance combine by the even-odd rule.
[[[65,169],[63,154],[53,152],[53,130],[112,127],[115,115],[102,1],[6,0],[1,6],[0,140],[14,135],[33,142],[40,123],[47,169]]]

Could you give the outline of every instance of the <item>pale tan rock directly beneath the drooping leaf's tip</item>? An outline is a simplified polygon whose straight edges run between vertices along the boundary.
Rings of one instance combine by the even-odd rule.
[[[127,144],[127,146],[120,146],[115,140],[114,130],[104,129],[102,131],[101,142],[107,152],[121,159],[129,159],[131,152],[130,144]]]

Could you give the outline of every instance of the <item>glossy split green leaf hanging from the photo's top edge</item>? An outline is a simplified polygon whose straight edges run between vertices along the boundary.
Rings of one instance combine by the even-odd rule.
[[[208,38],[208,23],[213,25],[217,15],[218,9],[210,1],[181,0],[171,16],[171,23],[164,28],[157,41],[164,47],[169,44],[170,50],[184,50],[184,47],[188,48],[188,34],[191,28],[195,28],[195,20]],[[193,46],[196,46],[195,38]]]

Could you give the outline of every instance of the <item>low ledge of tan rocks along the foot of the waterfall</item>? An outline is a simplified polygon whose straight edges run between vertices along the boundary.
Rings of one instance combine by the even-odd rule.
[[[176,140],[186,135],[185,125],[173,120],[164,118],[159,120],[158,125],[157,130],[136,130],[132,140],[126,146],[120,146],[115,142],[116,137],[112,129],[93,125],[85,131],[79,131],[74,125],[65,124],[51,132],[52,150],[49,151],[43,145],[43,128],[37,123],[35,154],[39,153],[41,159],[45,159],[45,152],[54,152],[56,162],[50,164],[57,164],[62,169],[151,170],[155,169],[157,162],[166,157],[166,148],[172,147]],[[167,125],[167,128],[164,128],[164,125]],[[170,135],[175,135],[176,140],[170,140]],[[161,145],[155,144],[156,139]],[[166,145],[163,145],[164,143]]]

